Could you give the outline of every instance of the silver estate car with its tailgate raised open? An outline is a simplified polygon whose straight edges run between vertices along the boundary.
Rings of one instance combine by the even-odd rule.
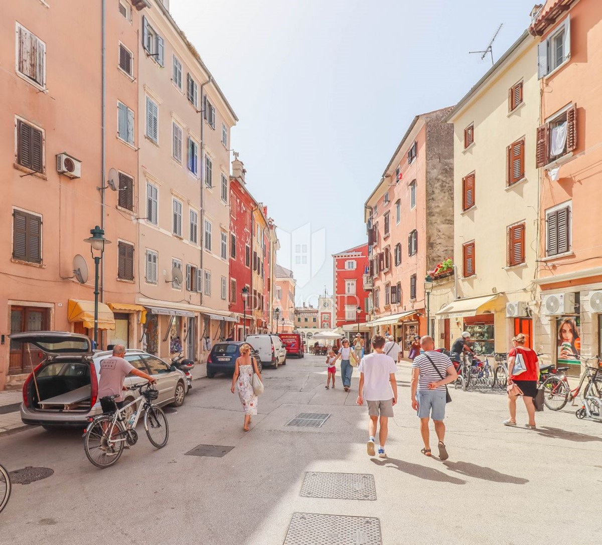
[[[11,340],[29,343],[45,359],[29,374],[23,384],[21,419],[26,424],[85,426],[90,416],[102,413],[98,399],[98,381],[102,360],[110,351],[92,351],[92,341],[85,335],[65,331],[31,331],[15,333]],[[184,403],[185,375],[175,367],[141,350],[126,350],[125,359],[135,368],[153,375],[159,390],[158,405]],[[125,386],[146,383],[134,375],[125,378]],[[133,401],[135,392],[124,392]]]

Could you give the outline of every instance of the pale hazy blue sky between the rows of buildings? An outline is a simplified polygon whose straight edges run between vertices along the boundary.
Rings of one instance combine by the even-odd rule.
[[[367,242],[364,203],[415,115],[452,106],[529,25],[535,0],[170,0],[239,122],[231,148],[278,226],[297,304]]]

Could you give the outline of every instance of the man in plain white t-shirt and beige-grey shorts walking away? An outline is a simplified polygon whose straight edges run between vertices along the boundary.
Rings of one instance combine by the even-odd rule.
[[[362,358],[359,363],[358,405],[368,402],[368,444],[369,456],[374,456],[374,437],[379,423],[379,458],[386,458],[385,443],[389,432],[389,417],[393,417],[393,405],[397,403],[397,366],[391,356],[383,353],[385,339],[376,335],[372,339],[373,353]]]

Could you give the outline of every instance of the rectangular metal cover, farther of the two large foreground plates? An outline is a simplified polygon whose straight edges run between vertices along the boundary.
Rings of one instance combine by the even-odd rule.
[[[376,500],[374,475],[367,473],[305,473],[301,496]]]

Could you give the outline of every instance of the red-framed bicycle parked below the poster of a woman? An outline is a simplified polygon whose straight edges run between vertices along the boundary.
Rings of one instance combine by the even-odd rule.
[[[550,375],[542,383],[544,389],[544,403],[547,408],[553,411],[559,411],[569,401],[573,401],[583,387],[582,399],[585,401],[586,398],[602,398],[602,384],[598,380],[594,380],[598,373],[598,366],[600,365],[600,356],[594,356],[590,358],[577,356],[573,354],[573,357],[585,361],[585,373],[582,375],[579,381],[579,386],[571,390],[571,386],[568,383],[568,378],[565,372],[568,371],[568,367],[560,367],[557,371],[562,372],[562,375],[553,374]],[[590,367],[588,365],[591,360],[596,360],[598,366]],[[583,384],[587,380],[585,386]]]

